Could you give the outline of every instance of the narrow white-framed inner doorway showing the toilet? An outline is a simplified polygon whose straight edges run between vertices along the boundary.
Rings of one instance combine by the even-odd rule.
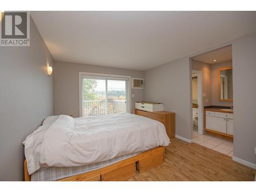
[[[203,134],[202,72],[192,70],[193,136]]]

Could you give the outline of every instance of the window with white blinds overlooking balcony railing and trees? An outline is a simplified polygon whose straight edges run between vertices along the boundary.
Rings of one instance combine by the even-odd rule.
[[[131,77],[79,72],[80,117],[130,113]]]

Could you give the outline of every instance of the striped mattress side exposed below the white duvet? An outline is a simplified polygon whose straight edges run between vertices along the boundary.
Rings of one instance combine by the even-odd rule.
[[[96,169],[114,164],[118,161],[127,159],[129,157],[133,157],[137,154],[139,153],[124,155],[124,156],[116,157],[107,161],[102,161],[99,163],[93,163],[93,164],[84,165],[84,166],[40,168],[39,170],[37,170],[31,175],[30,180],[31,181],[57,181],[66,177],[71,177],[74,175],[91,172],[92,170],[96,170]]]

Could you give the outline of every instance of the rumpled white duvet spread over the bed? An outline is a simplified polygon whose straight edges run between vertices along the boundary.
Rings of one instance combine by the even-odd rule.
[[[161,122],[132,114],[50,116],[24,141],[28,172],[81,166],[169,144]]]

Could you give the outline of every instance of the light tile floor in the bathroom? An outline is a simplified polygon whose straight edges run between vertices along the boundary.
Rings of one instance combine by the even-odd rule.
[[[217,152],[223,153],[230,157],[233,156],[233,142],[220,137],[204,134],[200,135],[193,131],[193,140],[195,143],[211,148]]]

